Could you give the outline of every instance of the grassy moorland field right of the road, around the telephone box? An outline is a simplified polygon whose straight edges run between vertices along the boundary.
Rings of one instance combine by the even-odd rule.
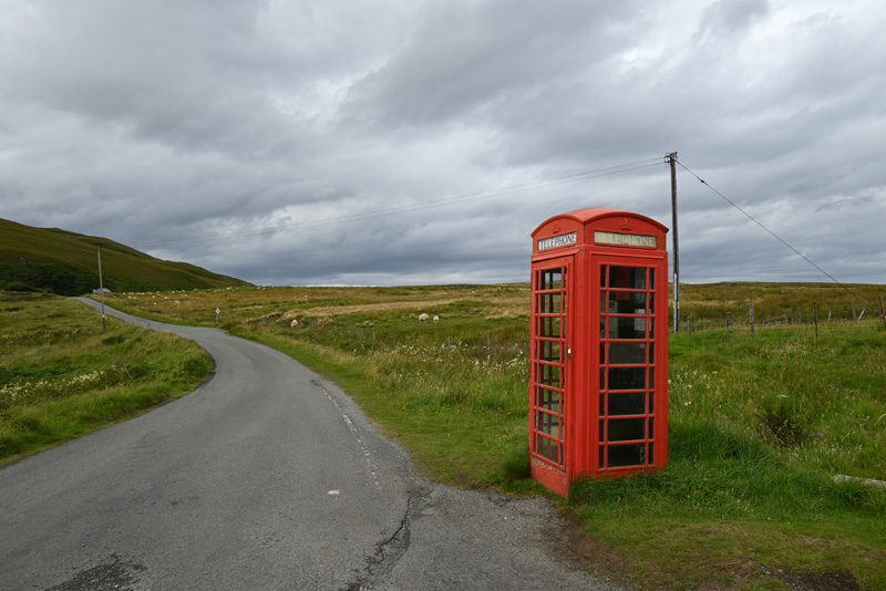
[[[847,288],[681,286],[683,323],[670,340],[670,464],[576,485],[563,507],[594,541],[575,551],[585,548],[597,571],[638,588],[886,589],[886,490],[832,480],[886,479],[878,315],[886,287]],[[107,301],[223,325],[292,354],[338,380],[434,478],[546,494],[526,478],[528,284]],[[420,324],[423,312],[440,323]],[[789,323],[764,322],[777,317]]]

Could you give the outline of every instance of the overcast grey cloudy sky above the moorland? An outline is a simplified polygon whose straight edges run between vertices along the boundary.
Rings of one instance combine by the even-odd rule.
[[[886,3],[0,0],[0,217],[259,284],[528,281],[668,152],[681,282],[830,281],[688,168],[886,283]]]

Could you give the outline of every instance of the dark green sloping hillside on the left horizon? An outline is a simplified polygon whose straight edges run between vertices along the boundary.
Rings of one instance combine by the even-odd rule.
[[[32,228],[0,219],[0,290],[45,290],[80,296],[99,288],[97,248],[104,287],[111,291],[171,291],[248,286],[186,262],[155,259],[107,238],[58,228]]]

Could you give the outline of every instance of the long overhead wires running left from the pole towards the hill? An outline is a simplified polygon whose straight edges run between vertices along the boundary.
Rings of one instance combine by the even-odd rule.
[[[453,197],[443,197],[440,199],[432,199],[430,201],[422,201],[419,204],[411,204],[411,205],[401,205],[394,207],[388,207],[383,209],[374,209],[372,211],[363,211],[361,214],[350,214],[346,216],[336,216],[332,218],[324,218],[318,219],[312,221],[303,221],[299,224],[288,224],[286,226],[276,226],[269,228],[258,228],[254,230],[244,230],[238,232],[224,232],[224,234],[215,234],[215,235],[207,235],[207,236],[198,236],[192,238],[179,238],[173,240],[162,240],[156,242],[142,242],[137,246],[138,248],[152,247],[152,246],[163,246],[163,245],[172,245],[172,243],[189,243],[189,242],[203,242],[203,241],[212,241],[212,240],[219,240],[224,238],[234,238],[234,237],[244,237],[244,236],[264,236],[264,235],[271,235],[278,234],[282,231],[289,231],[300,228],[316,228],[318,226],[331,226],[334,224],[344,224],[348,221],[359,221],[364,219],[372,219],[382,216],[390,216],[390,215],[398,215],[398,214],[406,214],[410,211],[420,211],[423,209],[432,209],[436,207],[446,207],[450,205],[455,204],[463,204],[468,201],[477,201],[481,199],[490,199],[493,197],[501,197],[503,195],[513,195],[516,193],[525,193],[529,190],[537,190],[548,187],[555,187],[557,185],[565,185],[568,183],[577,183],[580,180],[588,180],[591,178],[598,178],[601,176],[608,175],[617,175],[620,173],[628,173],[631,170],[639,170],[641,168],[650,168],[652,166],[659,166],[661,164],[661,158],[650,158],[648,160],[640,160],[636,163],[629,164],[620,164],[616,166],[609,166],[606,168],[598,168],[596,170],[586,170],[584,173],[576,173],[573,175],[566,175],[560,177],[548,178],[544,180],[536,180],[533,183],[524,183],[521,185],[512,185],[508,187],[499,187],[497,189],[486,189],[480,190],[475,193],[467,193],[463,195],[457,195]]]

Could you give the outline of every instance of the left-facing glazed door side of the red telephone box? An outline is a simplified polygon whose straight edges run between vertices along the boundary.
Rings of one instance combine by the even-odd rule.
[[[530,330],[532,409],[529,460],[533,477],[566,496],[569,486],[569,400],[574,308],[574,257],[537,265],[533,271]]]

